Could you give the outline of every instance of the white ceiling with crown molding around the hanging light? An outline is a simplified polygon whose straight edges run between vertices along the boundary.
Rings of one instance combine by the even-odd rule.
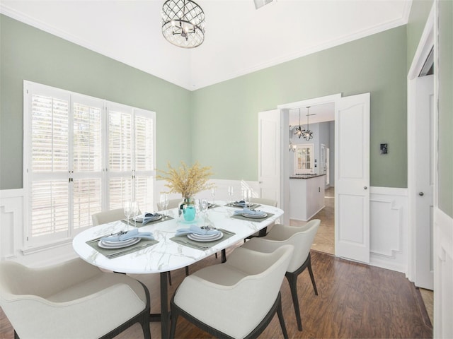
[[[1,0],[0,12],[188,90],[404,25],[412,0],[196,0],[205,42],[161,34],[164,0]]]

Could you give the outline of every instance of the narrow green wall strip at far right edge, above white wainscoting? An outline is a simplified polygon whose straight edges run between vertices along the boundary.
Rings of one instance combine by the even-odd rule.
[[[439,1],[439,208],[453,218],[453,1]]]

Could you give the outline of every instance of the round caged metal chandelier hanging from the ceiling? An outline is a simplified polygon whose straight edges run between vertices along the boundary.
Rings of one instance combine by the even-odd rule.
[[[195,48],[205,41],[205,12],[191,0],[168,0],[162,6],[162,34],[178,47]]]

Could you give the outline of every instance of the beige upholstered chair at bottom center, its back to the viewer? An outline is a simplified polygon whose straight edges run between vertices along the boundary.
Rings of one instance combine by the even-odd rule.
[[[271,254],[238,248],[226,263],[197,270],[183,280],[171,299],[171,331],[178,316],[216,338],[256,338],[277,312],[283,335],[280,287],[293,246]]]

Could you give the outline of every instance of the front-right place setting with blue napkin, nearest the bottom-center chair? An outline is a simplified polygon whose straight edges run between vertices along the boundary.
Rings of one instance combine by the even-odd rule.
[[[194,249],[205,250],[232,237],[234,234],[236,233],[210,227],[209,225],[202,227],[189,225],[188,228],[180,228],[177,230],[175,237],[171,238],[171,240]]]

